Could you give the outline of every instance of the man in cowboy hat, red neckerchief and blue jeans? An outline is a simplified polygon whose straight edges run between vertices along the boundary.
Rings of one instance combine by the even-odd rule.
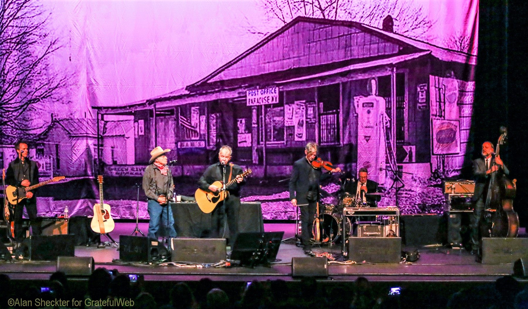
[[[169,151],[171,149],[164,150],[159,146],[150,151],[150,160],[143,173],[143,190],[148,198],[147,207],[150,216],[148,237],[154,239],[157,239],[156,233],[160,224],[168,230],[164,235],[176,237],[174,217],[171,207],[167,204],[174,190],[172,173],[167,167],[167,156],[165,156]]]

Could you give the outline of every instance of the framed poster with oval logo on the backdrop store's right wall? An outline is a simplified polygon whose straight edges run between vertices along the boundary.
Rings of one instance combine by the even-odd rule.
[[[460,153],[460,126],[458,120],[433,119],[431,128],[433,154]]]

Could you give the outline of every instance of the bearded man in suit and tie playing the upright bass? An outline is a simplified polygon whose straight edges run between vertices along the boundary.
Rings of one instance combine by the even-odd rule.
[[[487,184],[493,172],[503,172],[508,175],[510,171],[504,165],[501,157],[495,156],[493,160],[493,152],[495,148],[491,142],[484,142],[482,144],[482,158],[473,161],[473,175],[475,176],[475,193],[473,194],[473,216],[471,217],[471,242],[472,254],[477,254],[482,240],[482,233],[479,229],[482,226],[484,218],[485,201],[487,198]],[[495,163],[495,164],[494,164]]]

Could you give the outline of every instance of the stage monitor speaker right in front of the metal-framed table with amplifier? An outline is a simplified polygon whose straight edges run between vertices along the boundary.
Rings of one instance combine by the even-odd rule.
[[[348,237],[348,259],[398,264],[401,261],[401,237]]]

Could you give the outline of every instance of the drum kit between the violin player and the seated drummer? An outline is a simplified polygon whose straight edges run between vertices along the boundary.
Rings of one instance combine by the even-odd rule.
[[[332,197],[333,195],[323,189],[319,189],[323,197]],[[381,192],[367,193],[367,196],[382,196]],[[322,243],[335,244],[345,238],[351,236],[352,222],[350,218],[345,217],[345,231],[343,232],[343,208],[344,207],[370,207],[367,202],[345,192],[337,205],[334,204],[319,204],[319,231],[316,228],[316,220],[314,219],[312,235],[315,237],[320,233],[319,239]]]

